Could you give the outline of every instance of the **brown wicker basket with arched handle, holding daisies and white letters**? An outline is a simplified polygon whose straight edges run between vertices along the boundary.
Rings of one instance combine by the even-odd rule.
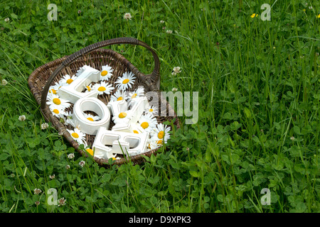
[[[129,60],[124,58],[122,55],[120,55],[118,52],[114,52],[110,49],[104,49],[102,47],[108,46],[108,45],[118,45],[118,44],[132,44],[132,45],[141,45],[142,47],[149,50],[153,57],[154,57],[154,70],[151,72],[151,74],[143,74],[142,72],[139,72],[137,67],[134,67]],[[90,65],[91,67],[95,68],[96,70],[101,70],[102,65],[110,65],[113,71],[112,77],[109,79],[109,83],[114,86],[114,82],[116,82],[117,78],[119,76],[122,76],[124,72],[131,71],[134,73],[136,77],[136,81],[134,82],[134,85],[132,89],[129,89],[129,91],[133,91],[134,89],[137,89],[138,86],[144,86],[144,92],[157,92],[159,95],[159,113],[163,113],[162,111],[166,111],[166,113],[174,113],[174,116],[168,116],[169,114],[166,114],[167,116],[157,116],[156,120],[158,123],[163,123],[164,121],[174,121],[174,125],[176,128],[180,128],[178,118],[176,117],[176,113],[171,108],[169,103],[166,100],[161,99],[159,87],[160,87],[160,75],[159,75],[159,69],[160,69],[160,62],[159,57],[156,55],[156,52],[154,52],[153,49],[149,47],[149,45],[146,45],[146,43],[137,40],[135,38],[114,38],[111,40],[105,40],[101,41],[99,43],[95,43],[92,45],[89,45],[82,50],[79,50],[78,52],[73,53],[73,55],[61,57],[57,60],[54,60],[52,62],[48,62],[46,65],[42,65],[41,67],[38,67],[36,70],[32,72],[30,77],[28,78],[28,85],[31,89],[31,93],[35,97],[37,103],[41,106],[41,112],[46,118],[46,121],[50,121],[55,127],[55,129],[58,130],[58,132],[63,135],[63,137],[68,140],[68,142],[73,145],[75,150],[78,150],[80,155],[86,155],[85,151],[82,151],[79,149],[79,144],[71,137],[70,133],[68,133],[67,128],[69,130],[72,130],[73,127],[68,125],[65,126],[63,123],[59,121],[59,119],[53,114],[51,114],[48,105],[46,104],[46,97],[48,94],[48,89],[50,85],[54,84],[55,82],[58,82],[61,77],[63,77],[65,74],[73,75],[77,72],[77,70],[82,67],[83,65]],[[112,91],[112,94],[117,91],[117,88],[115,88]],[[107,104],[110,101],[110,96],[112,94],[104,94],[99,95],[98,99],[100,99],[102,102]],[[161,109],[160,109],[161,107]],[[166,110],[164,110],[166,108]],[[73,104],[67,109],[67,111],[73,111]],[[114,123],[110,121],[110,128],[111,130],[112,126],[114,126]],[[86,135],[85,138],[87,144],[93,143],[95,140],[95,135]],[[151,156],[151,154],[155,153],[157,149],[149,150],[146,153],[143,153],[142,155],[146,155],[148,157]],[[140,164],[145,161],[144,157],[142,155],[134,155],[130,156],[131,161],[134,164]],[[97,162],[99,165],[109,167],[110,165],[107,165],[106,163],[108,160],[93,157],[95,162]],[[114,161],[114,165],[122,165],[124,162],[127,162],[129,159],[122,157],[121,159],[117,159]]]

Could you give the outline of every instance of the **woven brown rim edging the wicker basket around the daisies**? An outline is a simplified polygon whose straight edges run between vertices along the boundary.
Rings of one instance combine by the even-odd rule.
[[[134,65],[132,65],[131,62],[129,62],[129,60],[127,60],[125,57],[123,57],[123,55],[119,54],[118,52],[114,51],[114,50],[111,50],[111,49],[104,49],[104,48],[99,48],[99,49],[96,49],[96,50],[92,50],[91,52],[89,53],[86,53],[85,55],[92,55],[92,53],[101,53],[102,54],[102,57],[104,57],[105,55],[113,55],[112,57],[114,58],[117,58],[118,60],[120,61],[123,61],[124,60],[124,63],[127,65],[127,67],[129,68],[135,68]],[[28,77],[28,86],[30,87],[31,89],[31,93],[33,94],[34,98],[36,99],[36,102],[41,105],[41,90],[38,89],[37,86],[35,86],[34,82],[35,80],[38,78],[38,75],[43,72],[43,70],[47,70],[47,69],[50,69],[52,67],[55,67],[58,65],[60,65],[64,60],[66,60],[70,55],[65,55],[63,57],[60,57],[58,59],[55,59],[51,62],[47,62],[45,65],[41,65],[40,67],[36,68],[36,70],[34,70],[31,75]],[[77,61],[77,60],[75,60]],[[70,63],[70,65],[72,65],[73,62]],[[51,72],[52,73],[52,72]],[[47,80],[48,81],[48,80]],[[164,100],[160,100],[161,102],[164,101]],[[168,106],[168,109],[170,110],[173,110],[170,106],[170,104],[166,102],[166,105]],[[48,105],[46,105],[48,106]],[[174,110],[173,110],[174,111]],[[78,153],[80,153],[80,155],[85,155],[85,156],[88,156],[87,153],[81,149],[79,149],[79,144],[73,140],[73,138],[70,136],[70,133],[68,133],[68,131],[66,130],[67,128],[63,125],[63,123],[60,123],[60,121],[58,121],[58,118],[54,117],[51,113],[43,113],[43,114],[46,114],[46,117],[48,119],[50,119],[50,122],[52,123],[52,125],[54,126],[54,128],[63,135],[63,137],[68,140],[68,142],[70,143],[70,145],[73,146],[73,148],[75,148],[75,150],[78,151]],[[180,123],[178,121],[178,117],[176,116],[176,112],[174,111],[174,116],[173,118],[175,119],[174,121],[174,125],[176,126],[176,128],[180,128]],[[173,130],[173,128],[171,129]],[[161,147],[159,147],[161,148]],[[156,148],[154,150],[149,150],[149,151],[146,151],[145,153],[142,153],[142,154],[139,154],[139,155],[132,155],[132,156],[129,156],[129,158],[127,157],[123,157],[121,159],[117,159],[117,160],[114,160],[114,162],[112,163],[112,165],[122,165],[124,164],[125,162],[134,162],[134,164],[140,164],[141,162],[144,162],[145,161],[145,158],[142,156],[147,156],[147,157],[150,157],[152,154],[155,154],[156,155],[156,151],[159,150],[159,148]],[[92,156],[91,156],[92,157]],[[110,164],[107,164],[108,163],[108,160],[105,160],[103,158],[98,158],[98,157],[92,157],[95,162],[97,162],[99,165],[101,166],[104,166],[104,167],[110,167]]]

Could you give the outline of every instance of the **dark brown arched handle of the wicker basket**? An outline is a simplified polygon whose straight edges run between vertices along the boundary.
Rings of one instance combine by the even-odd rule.
[[[151,91],[159,90],[160,87],[160,61],[158,55],[156,55],[156,52],[146,43],[137,40],[136,38],[131,37],[122,37],[122,38],[113,38],[110,40],[104,40],[98,43],[94,43],[92,45],[88,45],[85,48],[82,48],[81,50],[73,53],[72,55],[69,55],[67,59],[65,59],[61,65],[59,65],[55,71],[50,75],[45,87],[43,88],[43,92],[41,94],[41,111],[44,114],[44,110],[46,109],[46,98],[49,91],[50,84],[53,82],[53,79],[58,75],[58,73],[63,70],[66,66],[70,64],[70,62],[73,62],[74,60],[78,59],[80,56],[87,54],[88,52],[91,52],[92,50],[96,50],[98,48],[103,48],[108,45],[117,45],[117,44],[132,44],[132,45],[141,45],[142,47],[149,50],[153,57],[154,57],[154,71],[151,72],[151,74],[143,74],[142,72],[139,72],[136,67],[131,67],[130,70],[139,77],[139,79],[142,79],[146,86],[149,87]],[[130,63],[129,61],[127,63]],[[154,85],[154,82],[156,84]]]

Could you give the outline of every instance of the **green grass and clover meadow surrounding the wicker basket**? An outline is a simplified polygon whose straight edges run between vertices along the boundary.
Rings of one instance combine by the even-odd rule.
[[[58,0],[58,21],[48,21],[49,3],[0,3],[0,79],[9,82],[0,86],[1,212],[320,211],[318,2]],[[265,3],[271,21],[260,19]],[[180,117],[166,153],[105,169],[41,130],[27,81],[46,62],[123,36],[156,50],[162,91],[199,92],[199,119]],[[147,50],[111,48],[151,72]],[[46,205],[49,188],[65,206]]]

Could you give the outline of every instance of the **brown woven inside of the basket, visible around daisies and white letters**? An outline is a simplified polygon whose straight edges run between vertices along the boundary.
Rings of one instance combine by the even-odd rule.
[[[38,92],[33,92],[33,95],[35,96],[36,100],[39,103],[39,94],[41,94],[41,92],[43,91],[43,87],[46,85],[46,82],[48,81],[48,78],[50,77],[50,74],[53,73],[53,71],[55,70],[56,67],[58,67],[61,62],[63,62],[63,60],[65,60],[65,57],[60,58],[58,60],[55,60],[53,62],[49,62],[46,65],[43,65],[43,67],[41,67],[41,70],[39,70],[38,73],[33,74],[33,80],[32,82],[30,82],[29,79],[29,84],[33,83],[33,87],[38,90]],[[129,64],[131,64],[129,62]],[[117,88],[116,88],[116,84],[114,84],[114,82],[117,81],[118,77],[122,77],[122,74],[124,72],[129,72],[129,67],[128,67],[128,61],[119,53],[114,52],[113,50],[110,49],[98,49],[98,50],[94,50],[90,53],[88,53],[87,55],[82,55],[81,57],[79,57],[77,60],[75,60],[74,62],[71,62],[70,65],[68,65],[67,67],[65,67],[63,70],[61,70],[57,77],[55,77],[55,79],[53,80],[53,83],[50,85],[55,84],[55,82],[58,82],[62,77],[65,76],[65,74],[69,74],[70,76],[73,76],[73,74],[75,74],[80,67],[82,67],[83,65],[89,65],[90,67],[95,68],[96,70],[102,70],[102,66],[103,65],[109,65],[112,67],[112,69],[114,70],[112,72],[112,77],[108,80],[109,84],[112,84],[112,87],[114,87],[114,90],[112,91],[111,94],[103,94],[103,95],[98,95],[97,98],[100,99],[100,101],[102,101],[104,104],[108,104],[108,102],[110,101],[110,96],[112,94],[114,94],[114,92],[117,92]],[[92,83],[95,84],[95,83]],[[137,89],[139,86],[143,86],[144,87],[144,92],[149,92],[149,88],[146,87],[146,85],[144,84],[144,82],[142,82],[141,79],[139,79],[139,77],[136,78],[132,88],[127,89],[129,92],[134,91],[134,89]],[[31,89],[31,91],[34,91],[35,89]],[[159,94],[159,114],[162,111],[160,109],[160,107],[166,108],[166,113],[168,113],[169,109],[171,109],[171,106],[169,106],[169,104],[167,103],[166,105],[162,104],[163,101],[161,101],[160,98],[160,94]],[[66,109],[66,111],[70,111],[73,112],[73,104],[71,104],[71,106]],[[90,111],[86,111],[86,114],[92,114],[95,115],[95,113],[90,112]],[[167,114],[168,115],[168,114]],[[164,121],[172,121],[172,119],[176,118],[176,114],[174,114],[175,116],[156,116],[156,120],[158,121],[158,123],[163,123]],[[52,114],[50,114],[50,118],[56,118],[55,116],[52,116]],[[58,118],[57,118],[58,119]],[[176,118],[175,121],[175,125],[177,127],[179,127],[178,125],[178,118]],[[109,130],[111,130],[112,126],[114,126],[113,121],[110,121],[110,128]],[[65,129],[69,129],[69,130],[73,130],[73,126],[65,126],[64,124],[60,124],[59,127],[55,127],[58,129],[58,131],[62,131],[63,127]],[[85,138],[87,145],[92,145],[93,141],[95,140],[95,135],[88,135],[86,134],[86,138]],[[159,148],[157,148],[159,149]],[[149,150],[146,153],[143,153],[143,155],[146,156],[150,156],[152,153],[154,153],[157,149],[154,150]],[[80,153],[82,153],[82,151],[80,151]],[[114,162],[114,164],[122,164],[123,162],[125,162],[125,158],[122,155],[117,155],[118,157],[122,157],[120,160],[117,160],[116,162]],[[139,164],[140,162],[143,161],[143,157],[141,155],[135,155],[135,156],[131,156],[130,157],[131,160],[135,163],[135,164]],[[96,160],[97,159],[97,160]],[[98,161],[98,163],[103,163],[103,162],[107,162],[107,160],[101,160],[97,157],[95,157],[95,160]]]

